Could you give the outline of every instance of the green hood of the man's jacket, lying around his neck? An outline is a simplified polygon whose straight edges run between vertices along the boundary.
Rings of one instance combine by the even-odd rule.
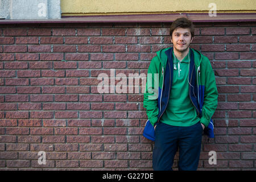
[[[156,52],[156,56],[158,56],[158,59],[164,68],[166,68],[166,63],[168,59],[165,52],[168,49],[173,49],[173,47],[160,49],[159,51]],[[195,64],[197,67],[199,67],[204,56],[201,54],[201,52],[197,51],[196,49],[190,48],[190,50],[193,51]]]

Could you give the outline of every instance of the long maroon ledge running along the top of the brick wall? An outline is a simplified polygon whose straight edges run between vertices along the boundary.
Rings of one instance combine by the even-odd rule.
[[[193,22],[256,22],[256,14],[147,14],[147,15],[105,15],[105,16],[65,16],[61,19],[0,20],[9,23],[134,23],[134,22],[173,22],[176,18],[187,16]]]

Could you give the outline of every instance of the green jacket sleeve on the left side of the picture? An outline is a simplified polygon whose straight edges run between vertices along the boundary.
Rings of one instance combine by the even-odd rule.
[[[159,88],[159,70],[156,65],[158,57],[155,56],[147,71],[146,88],[144,89],[143,107],[146,109],[147,117],[150,123],[154,126],[158,120],[158,88]]]

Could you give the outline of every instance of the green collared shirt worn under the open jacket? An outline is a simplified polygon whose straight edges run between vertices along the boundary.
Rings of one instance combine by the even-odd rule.
[[[172,80],[169,102],[166,111],[160,119],[161,122],[166,123],[167,125],[192,126],[200,121],[200,118],[196,113],[196,108],[189,98],[188,55],[189,53],[181,61],[176,58],[176,69],[173,69],[174,77]],[[173,60],[175,60],[174,56],[174,51],[172,51]]]

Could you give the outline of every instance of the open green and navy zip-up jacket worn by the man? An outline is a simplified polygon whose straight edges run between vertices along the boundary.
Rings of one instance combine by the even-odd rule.
[[[148,68],[143,106],[146,108],[148,121],[154,126],[166,111],[173,77],[173,48],[156,52]],[[200,122],[206,127],[211,123],[217,107],[218,92],[212,66],[209,59],[199,51],[190,48],[189,97],[195,106]]]

